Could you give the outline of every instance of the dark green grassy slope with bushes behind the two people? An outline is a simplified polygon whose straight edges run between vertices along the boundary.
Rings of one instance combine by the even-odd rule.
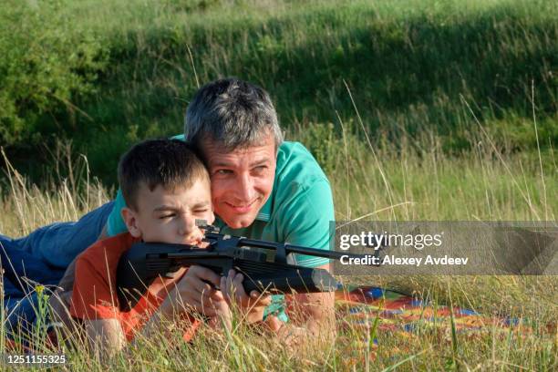
[[[463,99],[499,146],[536,150],[534,96],[540,145],[557,143],[551,2],[53,4],[16,2],[19,22],[0,12],[8,25],[0,48],[10,56],[5,100],[15,102],[5,128],[19,120],[3,139],[18,166],[37,143],[67,137],[94,174],[113,183],[123,150],[181,132],[198,83],[225,76],[267,88],[285,128],[332,122],[337,132],[337,114],[355,117],[346,82],[373,141],[380,136],[397,148],[401,136],[432,134],[445,154],[475,146],[470,131],[478,130]],[[30,12],[52,21],[34,21]],[[26,39],[29,30],[40,34],[41,47]]]

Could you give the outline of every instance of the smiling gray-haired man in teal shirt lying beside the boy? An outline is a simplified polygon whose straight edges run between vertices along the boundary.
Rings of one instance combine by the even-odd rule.
[[[235,78],[216,80],[200,88],[187,109],[184,136],[178,138],[197,147],[208,167],[213,208],[224,233],[329,249],[329,222],[334,220],[329,182],[304,146],[283,141],[274,105],[262,88]],[[123,205],[119,192],[105,234],[125,231],[119,216]],[[296,261],[305,266],[329,267],[321,258],[299,255]],[[199,273],[200,283],[208,278],[216,280],[210,270]],[[64,289],[71,288],[72,277],[70,267],[61,282]],[[238,285],[242,280],[241,274],[233,276],[240,288],[237,300],[250,303],[251,298]],[[199,295],[194,287],[191,295]],[[264,315],[266,321],[277,332],[292,335],[294,328],[279,322],[286,320],[282,298],[274,300]],[[296,332],[315,335],[324,322],[331,320],[334,297],[297,294],[287,296],[287,305],[292,324],[304,325]]]

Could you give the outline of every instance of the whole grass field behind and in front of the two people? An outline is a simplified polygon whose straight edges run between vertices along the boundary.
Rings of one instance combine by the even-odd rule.
[[[337,220],[557,219],[550,1],[8,3],[0,9],[0,233],[73,221],[109,201],[119,155],[181,132],[198,85],[231,75],[271,92],[286,138],[326,171]],[[532,332],[487,326],[452,336],[448,324],[379,333],[371,346],[370,330],[355,328],[293,352],[240,326],[193,346],[169,347],[161,334],[109,362],[67,349],[66,369],[557,367],[555,277],[349,280],[511,315]]]

